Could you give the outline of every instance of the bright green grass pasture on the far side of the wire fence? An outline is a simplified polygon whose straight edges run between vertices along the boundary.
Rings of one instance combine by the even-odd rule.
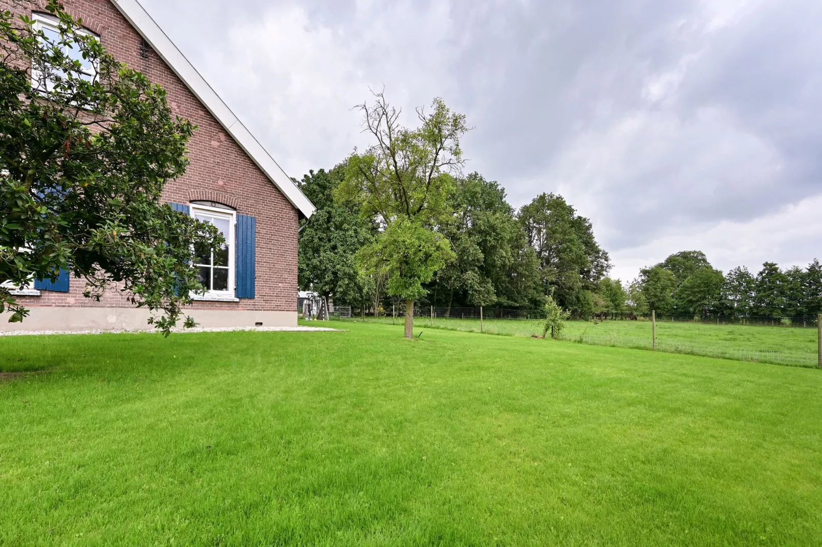
[[[353,318],[353,321],[362,319]],[[400,324],[404,319],[365,318],[366,322]],[[432,321],[427,317],[417,317],[414,323],[418,329],[431,329]],[[479,319],[459,319],[437,317],[433,321],[436,329],[452,329],[465,332],[480,331]],[[483,332],[507,336],[531,336],[542,334],[543,329],[536,319],[485,319]],[[567,321],[563,336],[574,341],[622,346],[651,346],[651,322],[647,320],[623,321],[607,320]],[[695,353],[707,356],[727,356],[732,358],[750,357],[760,361],[789,365],[815,365],[817,350],[816,329],[800,327],[767,327],[739,324],[701,324],[687,322],[658,321],[658,347],[665,351]],[[740,350],[745,350],[739,354]],[[753,355],[750,352],[754,352]],[[778,352],[774,355],[769,352]]]

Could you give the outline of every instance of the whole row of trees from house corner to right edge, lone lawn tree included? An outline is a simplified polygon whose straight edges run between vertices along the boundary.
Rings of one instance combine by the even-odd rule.
[[[383,94],[375,96],[358,107],[375,144],[298,181],[316,205],[300,228],[302,290],[374,315],[405,306],[406,317],[414,306],[547,313],[555,303],[575,319],[822,311],[817,260],[806,269],[766,262],[758,274],[745,267],[723,274],[703,252],[681,251],[631,283],[609,278],[610,259],[590,220],[561,195],[543,193],[515,209],[500,184],[462,173],[464,116],[435,99],[409,129]]]

